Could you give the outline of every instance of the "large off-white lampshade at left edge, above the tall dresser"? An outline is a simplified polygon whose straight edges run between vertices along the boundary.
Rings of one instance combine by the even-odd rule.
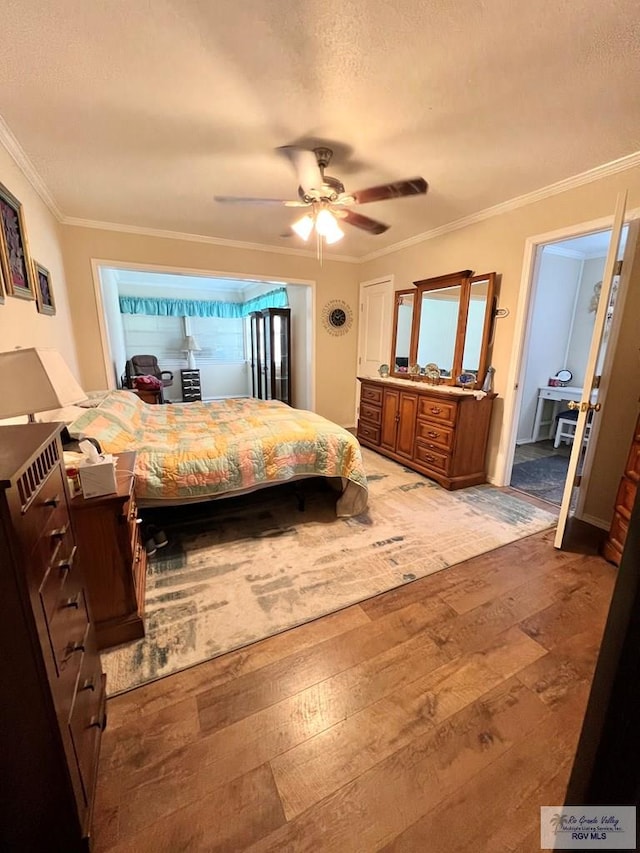
[[[0,352],[0,418],[61,409],[86,396],[57,350]]]

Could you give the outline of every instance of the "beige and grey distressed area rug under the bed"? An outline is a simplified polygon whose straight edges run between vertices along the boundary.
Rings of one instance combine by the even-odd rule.
[[[369,507],[354,518],[336,518],[336,493],[317,480],[156,514],[169,544],[149,560],[146,636],[103,653],[109,695],[556,522],[492,486],[448,492],[363,454]]]

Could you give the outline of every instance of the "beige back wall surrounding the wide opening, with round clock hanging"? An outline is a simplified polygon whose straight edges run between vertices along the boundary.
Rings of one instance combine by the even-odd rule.
[[[315,258],[77,226],[64,226],[62,234],[75,339],[87,388],[101,388],[107,383],[99,343],[92,259],[173,270],[268,276],[284,281],[303,279],[314,282],[315,291],[315,410],[343,426],[353,425],[357,329],[354,324],[346,335],[335,337],[322,327],[320,317],[330,299],[343,299],[357,316],[356,264],[325,259],[321,266]]]

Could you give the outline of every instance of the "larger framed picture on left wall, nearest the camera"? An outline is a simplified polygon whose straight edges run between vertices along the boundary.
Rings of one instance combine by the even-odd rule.
[[[0,184],[0,267],[9,296],[35,299],[35,275],[29,258],[22,205]]]

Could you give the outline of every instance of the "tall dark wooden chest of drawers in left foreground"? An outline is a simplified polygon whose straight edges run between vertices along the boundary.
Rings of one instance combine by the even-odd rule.
[[[0,849],[89,849],[105,677],[60,424],[0,427]]]

